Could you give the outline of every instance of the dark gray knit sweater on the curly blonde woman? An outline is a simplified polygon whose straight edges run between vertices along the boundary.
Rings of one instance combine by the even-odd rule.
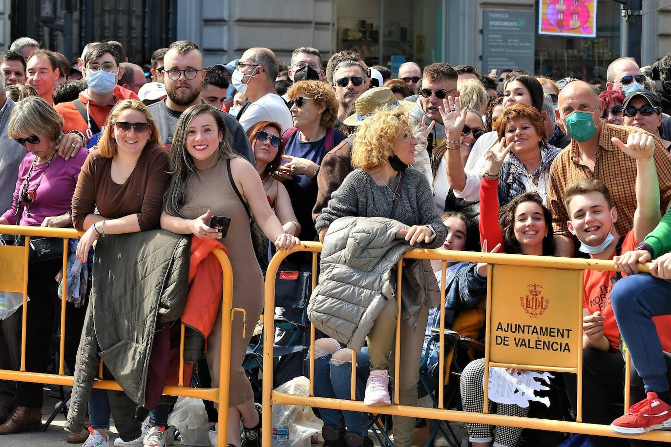
[[[345,216],[390,217],[393,206],[392,191],[396,190],[400,179],[399,174],[387,188],[378,186],[370,174],[362,169],[350,172],[317,217],[317,231],[330,227],[333,220]],[[435,239],[428,244],[422,244],[423,248],[440,247],[448,234],[433,204],[429,182],[413,167],[405,171],[401,198],[392,218],[405,225],[431,225],[435,231]]]

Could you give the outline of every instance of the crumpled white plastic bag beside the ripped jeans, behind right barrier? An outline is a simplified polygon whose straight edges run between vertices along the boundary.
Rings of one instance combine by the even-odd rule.
[[[307,396],[309,386],[309,379],[301,376],[291,379],[287,383],[282,383],[275,391]],[[310,447],[312,438],[314,438],[314,442],[324,442],[321,436],[321,428],[324,423],[315,416],[311,407],[287,405],[287,409],[291,412],[291,424],[289,424],[291,447]]]

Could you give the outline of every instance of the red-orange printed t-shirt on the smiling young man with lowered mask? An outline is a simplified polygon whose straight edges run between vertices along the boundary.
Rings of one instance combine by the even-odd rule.
[[[625,240],[622,243],[621,253],[633,250],[638,244],[633,235],[633,230],[627,233]],[[613,259],[615,252],[611,255]],[[586,270],[584,282],[584,302],[582,306],[588,310],[590,314],[601,312],[601,315],[606,319],[603,322],[603,334],[610,342],[613,349],[619,351],[620,349],[620,331],[615,322],[615,314],[611,307],[611,290],[613,290],[613,279],[617,275],[615,271],[603,270]],[[625,273],[623,273],[625,276]],[[671,315],[656,316],[652,319],[657,326],[657,334],[662,343],[662,349],[666,352],[671,352]]]

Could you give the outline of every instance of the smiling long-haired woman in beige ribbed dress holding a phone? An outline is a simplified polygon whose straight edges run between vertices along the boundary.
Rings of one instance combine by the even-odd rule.
[[[247,327],[252,328],[263,307],[264,279],[254,256],[250,220],[241,200],[245,200],[262,231],[278,249],[291,249],[299,240],[284,232],[268,205],[256,170],[234,154],[229,141],[221,114],[211,106],[195,105],[182,114],[170,147],[172,178],[164,197],[161,227],[178,234],[219,239],[217,229],[207,225],[209,218],[231,218],[222,242],[233,266],[233,307],[246,310]],[[207,338],[213,387],[219,385],[220,330],[221,311]],[[242,368],[252,332],[247,330],[244,340],[231,346],[227,442],[234,446],[241,445],[241,418],[242,445],[260,446],[260,407],[254,405],[252,387]],[[242,318],[234,320],[233,334],[242,334]]]

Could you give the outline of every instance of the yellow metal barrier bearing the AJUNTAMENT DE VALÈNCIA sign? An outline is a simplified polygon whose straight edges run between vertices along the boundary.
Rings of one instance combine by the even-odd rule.
[[[274,325],[274,293],[275,275],[280,263],[287,255],[296,252],[312,253],[312,288],[317,284],[317,256],[321,252],[321,244],[301,242],[291,251],[280,251],[274,255],[266,272],[266,290],[263,323],[265,328]],[[488,387],[484,387],[482,413],[457,411],[444,407],[444,381],[438,381],[439,402],[437,408],[412,407],[399,405],[399,389],[395,387],[392,405],[368,407],[354,398],[356,384],[356,368],[352,367],[350,400],[315,397],[313,393],[314,360],[315,360],[315,328],[311,324],[310,340],[310,386],[309,395],[290,395],[272,389],[272,368],[263,369],[263,426],[262,445],[272,445],[272,405],[303,405],[317,408],[329,408],[364,413],[411,416],[454,422],[489,424],[495,426],[511,426],[550,430],[617,438],[636,438],[671,442],[671,432],[655,431],[639,436],[626,436],[611,432],[609,426],[586,424],[582,421],[582,298],[585,270],[617,271],[613,261],[597,259],[572,259],[549,256],[507,255],[499,253],[476,253],[466,251],[446,251],[413,249],[405,253],[405,259],[434,259],[442,261],[442,288],[440,308],[445,308],[446,300],[446,267],[448,261],[468,261],[488,263],[487,307],[486,307],[486,342],[485,342],[485,377],[488,383],[489,367],[505,367],[517,369],[535,369],[540,371],[556,371],[578,375],[577,422],[560,420],[542,420],[537,418],[519,418],[500,416],[487,413]],[[648,272],[648,266],[641,265],[639,270]],[[401,278],[403,263],[397,266],[398,278]],[[566,292],[570,291],[570,294]],[[397,296],[401,296],[401,281],[397,281]],[[399,318],[397,319],[395,358],[400,359],[400,326],[401,300]],[[519,306],[517,305],[519,303]],[[515,326],[504,326],[514,324]],[[521,326],[517,326],[521,325]],[[505,333],[524,330],[536,335],[535,340],[515,339]],[[535,329],[534,329],[535,328]],[[440,318],[440,346],[444,346],[445,320],[444,312]],[[264,330],[264,364],[272,365],[273,331]],[[497,338],[497,336],[499,338]],[[508,338],[506,338],[508,337]],[[521,346],[519,346],[521,345]],[[524,349],[523,349],[524,348]],[[352,355],[356,365],[356,353]],[[444,377],[444,349],[440,349],[439,376]],[[398,380],[400,362],[395,361],[393,377]],[[629,354],[625,355],[625,411],[629,409],[629,381],[631,362]],[[419,365],[417,365],[419,367]],[[613,371],[617,374],[617,371]]]

